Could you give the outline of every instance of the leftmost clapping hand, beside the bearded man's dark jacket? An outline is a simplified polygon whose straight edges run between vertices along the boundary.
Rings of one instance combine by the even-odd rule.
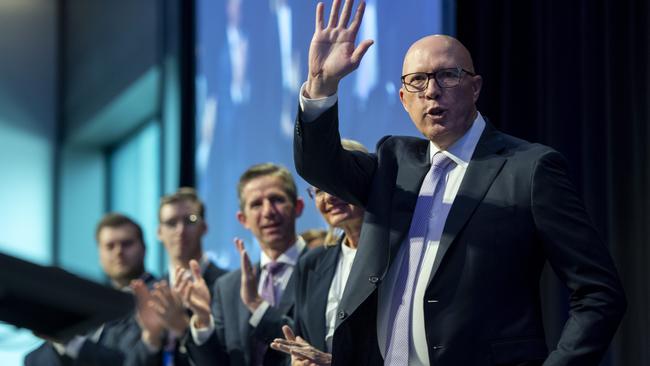
[[[131,288],[136,298],[136,320],[142,329],[142,340],[155,348],[160,348],[165,326],[156,311],[153,296],[142,280],[132,281]]]

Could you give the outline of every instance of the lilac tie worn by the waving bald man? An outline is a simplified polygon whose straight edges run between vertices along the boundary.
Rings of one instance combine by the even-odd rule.
[[[452,160],[443,153],[436,153],[431,161],[431,169],[424,177],[415,212],[411,219],[408,235],[408,248],[404,252],[403,260],[396,276],[395,288],[392,294],[390,308],[386,362],[387,366],[408,365],[409,345],[411,338],[411,313],[413,306],[413,293],[417,283],[420,263],[424,256],[427,229],[431,219],[434,200],[441,200],[440,194],[445,186],[445,172]],[[441,184],[438,182],[441,181]]]

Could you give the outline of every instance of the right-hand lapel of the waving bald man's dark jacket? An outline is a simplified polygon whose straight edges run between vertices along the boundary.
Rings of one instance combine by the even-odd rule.
[[[504,144],[499,133],[486,123],[485,130],[476,145],[474,155],[447,216],[429,283],[435,277],[447,250],[476,207],[483,201],[483,197],[506,162],[505,157],[496,154],[503,147]]]

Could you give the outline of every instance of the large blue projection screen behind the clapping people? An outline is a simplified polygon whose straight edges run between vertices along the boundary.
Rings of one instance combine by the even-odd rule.
[[[204,247],[228,268],[239,266],[233,237],[259,256],[235,218],[237,181],[252,164],[288,167],[306,207],[298,232],[325,227],[307,184],[293,167],[293,123],[317,1],[197,1],[197,185],[206,202]],[[367,0],[359,39],[373,39],[360,67],[339,89],[341,136],[370,151],[384,135],[419,135],[399,101],[402,58],[422,36],[451,33],[443,0]],[[326,2],[329,16],[330,2]],[[356,6],[355,6],[356,7]]]

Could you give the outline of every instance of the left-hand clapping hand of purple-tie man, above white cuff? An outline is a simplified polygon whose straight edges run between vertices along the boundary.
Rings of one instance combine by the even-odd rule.
[[[192,310],[192,321],[197,328],[205,328],[210,322],[210,290],[201,275],[199,262],[190,260],[190,273],[187,276],[186,270],[181,266],[176,267],[176,284],[173,292],[181,298],[183,306]]]

